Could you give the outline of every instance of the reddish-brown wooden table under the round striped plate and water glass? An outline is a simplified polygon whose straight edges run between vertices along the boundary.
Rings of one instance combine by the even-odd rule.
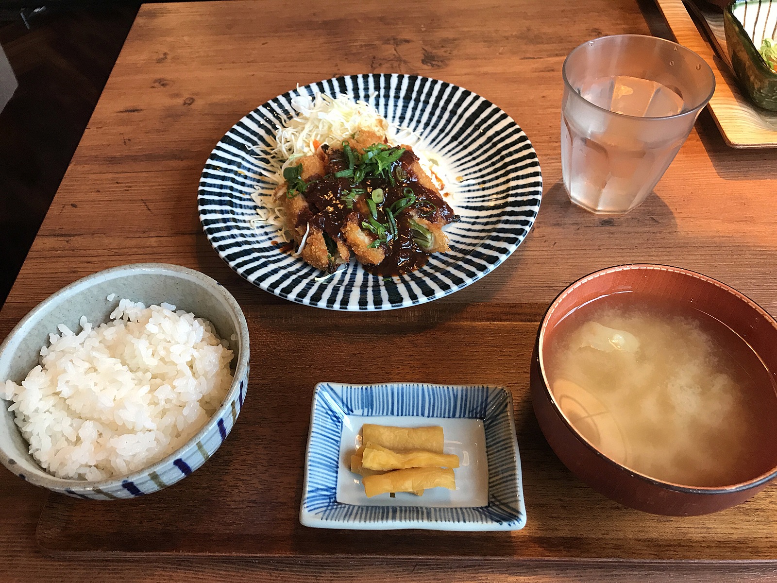
[[[191,2],[144,5],[81,145],[0,312],[0,337],[37,302],[106,267],[162,261],[217,278],[249,323],[315,322],[331,312],[291,305],[233,274],[197,220],[200,170],[239,117],[294,84],[361,72],[428,75],[507,111],[535,145],[542,209],[521,248],[475,285],[427,306],[513,311],[536,323],[570,281],[613,264],[702,271],[777,314],[777,166],[772,151],[733,151],[702,113],[647,201],[625,218],[573,207],[561,183],[559,106],[564,56],[591,37],[666,35],[652,3],[545,0],[494,6],[423,2]],[[395,312],[402,321],[402,312]],[[409,313],[409,312],[407,312]],[[253,330],[253,329],[252,329]],[[252,354],[253,367],[260,356]],[[503,365],[505,363],[502,363]],[[315,362],[311,364],[315,367]],[[408,373],[405,372],[407,376]],[[441,380],[442,372],[432,372]],[[528,372],[517,372],[525,386]],[[345,379],[348,380],[348,379]],[[382,379],[375,379],[382,380]],[[422,379],[419,379],[422,380]],[[489,382],[489,379],[458,379]],[[309,390],[310,387],[305,390]],[[33,581],[764,581],[770,564],[462,560],[283,560],[101,555],[49,557],[35,528],[47,493],[0,472],[0,578]],[[531,520],[531,505],[528,506]],[[731,557],[737,559],[737,557]]]

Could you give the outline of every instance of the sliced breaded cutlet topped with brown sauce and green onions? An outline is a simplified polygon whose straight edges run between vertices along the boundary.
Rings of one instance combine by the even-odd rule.
[[[285,228],[308,264],[333,273],[353,252],[367,271],[415,271],[448,250],[444,225],[458,221],[409,146],[360,131],[284,170]]]

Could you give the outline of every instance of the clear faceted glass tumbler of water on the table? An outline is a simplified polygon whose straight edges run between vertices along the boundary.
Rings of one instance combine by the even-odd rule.
[[[715,91],[698,54],[636,34],[581,44],[563,78],[564,187],[573,203],[605,215],[645,200]]]

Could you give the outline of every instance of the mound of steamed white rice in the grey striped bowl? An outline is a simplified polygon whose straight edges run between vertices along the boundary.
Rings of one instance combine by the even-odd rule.
[[[162,303],[127,299],[96,328],[58,326],[40,365],[0,397],[30,454],[61,478],[131,473],[184,445],[232,384],[232,351],[207,320]]]

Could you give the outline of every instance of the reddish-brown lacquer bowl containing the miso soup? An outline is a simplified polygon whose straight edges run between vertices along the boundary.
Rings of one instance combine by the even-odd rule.
[[[755,390],[758,398],[775,399],[777,322],[735,289],[705,275],[663,265],[609,267],[566,288],[550,305],[539,326],[531,358],[531,399],[542,433],[559,459],[594,490],[625,506],[660,515],[702,515],[739,504],[777,477],[777,444],[761,444],[751,477],[720,487],[671,484],[640,474],[609,459],[570,424],[549,389],[543,358],[559,323],[579,308],[607,295],[624,292],[659,302],[689,304],[720,320],[758,354],[769,382]],[[629,296],[625,296],[629,297]],[[777,424],[777,419],[774,420]],[[748,466],[749,468],[749,466]]]

